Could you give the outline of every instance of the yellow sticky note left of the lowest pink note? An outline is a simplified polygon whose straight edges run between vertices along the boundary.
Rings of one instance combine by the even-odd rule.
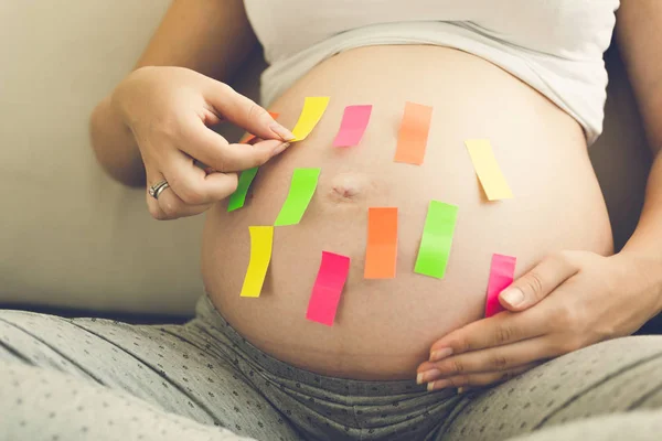
[[[248,227],[248,230],[250,232],[250,261],[241,297],[259,297],[271,260],[274,227]]]

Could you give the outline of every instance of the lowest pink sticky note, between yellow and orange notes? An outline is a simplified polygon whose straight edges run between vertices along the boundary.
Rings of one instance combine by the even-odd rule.
[[[322,251],[322,263],[312,287],[306,319],[333,326],[340,294],[349,272],[349,257]]]

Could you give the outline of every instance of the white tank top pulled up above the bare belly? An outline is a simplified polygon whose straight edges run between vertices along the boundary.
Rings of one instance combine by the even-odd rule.
[[[321,61],[378,44],[436,44],[481,56],[602,129],[619,0],[244,0],[270,66],[268,104]]]

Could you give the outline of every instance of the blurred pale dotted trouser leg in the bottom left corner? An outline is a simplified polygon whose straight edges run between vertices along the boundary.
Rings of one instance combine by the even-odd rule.
[[[0,441],[248,441],[55,369],[0,364]]]

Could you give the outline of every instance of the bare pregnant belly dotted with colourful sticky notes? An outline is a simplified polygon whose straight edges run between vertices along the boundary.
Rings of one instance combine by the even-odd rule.
[[[312,69],[270,110],[292,127],[306,96],[330,96],[313,132],[260,168],[247,205],[209,213],[203,278],[212,301],[250,343],[320,374],[414,378],[430,345],[483,316],[492,254],[517,257],[515,276],[560,249],[611,251],[602,195],[581,129],[494,65],[433,46],[365,47]],[[405,101],[434,107],[423,165],[393,161]],[[357,147],[334,148],[343,109],[372,104]],[[489,138],[514,200],[487,202],[463,141]],[[321,168],[299,225],[277,227],[260,298],[241,298],[250,225],[273,225],[295,168]],[[441,280],[414,273],[430,200],[459,206]],[[399,209],[397,275],[363,278],[367,208]],[[322,250],[351,258],[335,323],[306,311]]]

